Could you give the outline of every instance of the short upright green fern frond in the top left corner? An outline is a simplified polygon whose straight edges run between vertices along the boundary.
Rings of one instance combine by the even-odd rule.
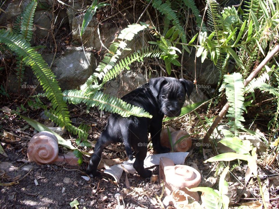
[[[33,0],[26,6],[24,12],[22,13],[20,33],[22,34],[23,38],[28,42],[31,41],[33,36],[33,20],[36,6],[37,1]]]

